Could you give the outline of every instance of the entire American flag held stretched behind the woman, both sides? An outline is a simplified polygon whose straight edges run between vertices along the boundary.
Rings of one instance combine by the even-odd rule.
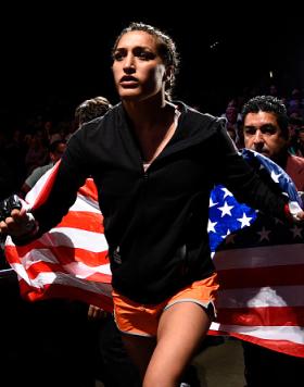
[[[270,176],[291,201],[299,201],[280,167],[248,150],[243,157],[263,178]],[[30,207],[46,200],[55,172],[56,166],[27,195]],[[208,234],[220,290],[210,334],[304,358],[303,233],[303,227],[264,216],[238,203],[227,188],[215,187]],[[5,254],[25,299],[72,298],[112,310],[107,245],[91,179],[55,228],[24,247],[8,238]]]

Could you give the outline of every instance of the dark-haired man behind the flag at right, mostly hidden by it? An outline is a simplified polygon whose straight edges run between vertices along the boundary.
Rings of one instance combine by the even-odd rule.
[[[288,152],[288,116],[283,103],[271,96],[258,96],[243,107],[242,114],[245,148],[277,162],[292,177],[297,190],[303,191],[304,159]],[[242,345],[248,387],[299,386],[304,359],[248,341],[242,341]]]

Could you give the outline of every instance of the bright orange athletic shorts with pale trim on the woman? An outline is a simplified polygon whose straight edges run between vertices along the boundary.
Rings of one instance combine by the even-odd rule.
[[[125,334],[156,336],[159,320],[166,309],[177,302],[194,302],[214,316],[214,300],[218,289],[217,274],[197,280],[179,290],[176,295],[157,304],[140,304],[112,291],[114,317],[117,328]],[[210,310],[211,309],[211,310]]]

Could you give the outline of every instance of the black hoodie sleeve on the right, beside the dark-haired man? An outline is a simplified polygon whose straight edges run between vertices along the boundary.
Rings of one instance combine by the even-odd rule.
[[[264,182],[241,157],[220,121],[214,155],[218,184],[226,186],[239,202],[287,221],[284,204],[288,198],[275,185]]]

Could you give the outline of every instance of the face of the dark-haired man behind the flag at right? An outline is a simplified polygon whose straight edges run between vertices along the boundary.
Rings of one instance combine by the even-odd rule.
[[[245,148],[276,161],[288,147],[288,139],[280,129],[277,117],[270,112],[249,113],[244,118]]]

